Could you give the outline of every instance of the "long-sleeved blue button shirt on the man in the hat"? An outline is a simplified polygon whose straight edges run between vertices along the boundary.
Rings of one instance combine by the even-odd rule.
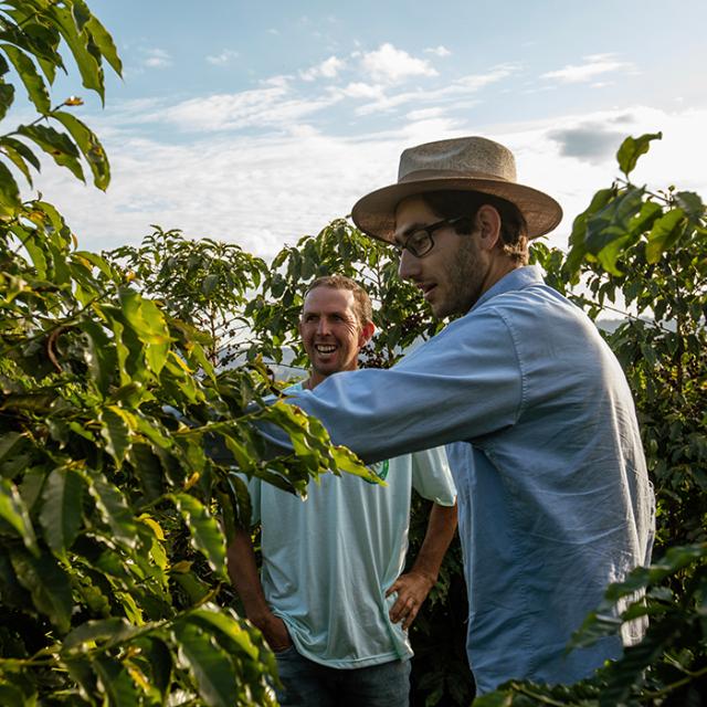
[[[447,445],[479,693],[574,682],[620,655],[620,639],[564,647],[606,585],[647,562],[653,492],[619,362],[537,268],[503,277],[393,368],[334,374],[292,401],[367,462]]]

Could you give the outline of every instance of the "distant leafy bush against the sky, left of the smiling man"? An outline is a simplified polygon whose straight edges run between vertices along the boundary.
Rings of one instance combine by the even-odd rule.
[[[178,230],[154,228],[139,247],[125,245],[106,256],[165,312],[210,334],[205,348],[214,366],[232,363],[250,334],[242,309],[268,273],[265,262],[235,243],[192,241]]]

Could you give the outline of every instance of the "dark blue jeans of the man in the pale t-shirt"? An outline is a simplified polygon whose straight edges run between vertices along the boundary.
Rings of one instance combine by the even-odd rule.
[[[391,661],[354,669],[327,667],[297,653],[276,653],[284,689],[283,707],[408,707],[410,661]]]

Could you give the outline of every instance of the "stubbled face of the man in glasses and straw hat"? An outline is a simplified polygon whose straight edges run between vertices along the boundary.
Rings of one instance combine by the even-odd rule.
[[[440,215],[420,197],[405,199],[395,211],[395,242],[403,245],[416,229],[439,221]],[[434,246],[422,257],[402,251],[400,277],[418,285],[436,317],[465,314],[488,286],[493,256],[479,245],[478,224],[463,235],[453,226],[439,228],[433,240]]]

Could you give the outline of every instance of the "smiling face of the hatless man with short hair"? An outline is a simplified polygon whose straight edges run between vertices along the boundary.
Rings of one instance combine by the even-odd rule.
[[[315,287],[305,297],[299,336],[312,362],[312,386],[327,376],[358,368],[358,352],[373,334],[361,325],[350,289]]]

